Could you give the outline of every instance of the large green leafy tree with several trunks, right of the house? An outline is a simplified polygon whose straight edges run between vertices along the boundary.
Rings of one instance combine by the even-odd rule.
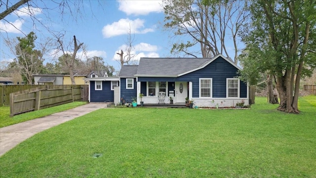
[[[256,71],[274,75],[278,110],[299,113],[301,77],[316,68],[316,1],[253,0],[250,11],[252,21],[243,37],[249,51],[242,61],[243,74],[251,76],[250,82]]]

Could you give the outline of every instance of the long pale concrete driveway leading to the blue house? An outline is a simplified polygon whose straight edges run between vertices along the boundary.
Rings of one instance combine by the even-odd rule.
[[[97,109],[106,107],[107,103],[88,103],[83,106],[55,113],[43,118],[33,119],[0,128],[0,156],[15,147],[17,144],[41,131],[70,121]]]

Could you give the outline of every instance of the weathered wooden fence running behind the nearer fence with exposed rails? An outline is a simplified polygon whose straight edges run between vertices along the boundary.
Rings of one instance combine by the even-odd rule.
[[[10,93],[19,94],[40,89],[69,89],[80,85],[0,85],[0,106],[10,105]],[[88,86],[81,85],[81,100],[88,100]]]

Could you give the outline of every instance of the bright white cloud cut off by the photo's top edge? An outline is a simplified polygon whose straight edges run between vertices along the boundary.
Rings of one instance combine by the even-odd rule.
[[[162,12],[162,0],[118,0],[120,11],[127,15],[147,15],[151,12]]]

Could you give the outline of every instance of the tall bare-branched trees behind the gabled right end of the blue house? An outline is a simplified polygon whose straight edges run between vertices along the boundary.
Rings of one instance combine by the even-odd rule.
[[[202,3],[204,2],[204,3]],[[163,0],[164,27],[174,31],[174,37],[188,36],[192,40],[176,43],[171,52],[192,55],[190,47],[199,45],[202,57],[224,54],[229,57],[226,43],[233,40],[237,63],[237,35],[246,20],[246,1]],[[230,31],[229,31],[230,30]]]

